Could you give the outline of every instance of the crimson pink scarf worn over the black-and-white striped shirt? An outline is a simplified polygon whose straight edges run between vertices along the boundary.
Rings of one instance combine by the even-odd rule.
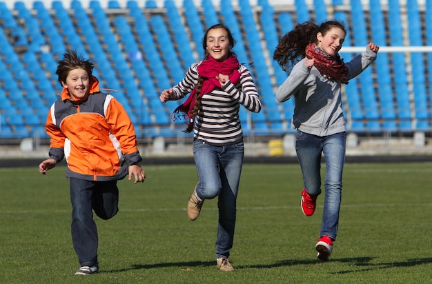
[[[231,54],[228,56],[228,59],[222,62],[216,61],[215,59],[213,59],[213,57],[210,57],[209,55],[206,61],[202,61],[202,63],[198,65],[199,77],[204,78],[204,82],[202,83],[202,88],[199,95],[202,97],[203,94],[208,94],[215,88],[220,87],[220,83],[216,79],[219,74],[228,75],[230,77],[231,83],[233,83],[234,85],[237,84],[240,80],[240,73],[238,69],[239,61],[237,60],[237,57]],[[190,117],[190,111],[195,105],[196,92],[197,87],[195,86],[192,92],[190,92],[188,99],[186,99],[183,104],[179,105],[179,107],[174,110],[174,120],[178,119],[179,117],[185,117],[187,114],[189,118],[189,124],[193,123],[193,119]]]

